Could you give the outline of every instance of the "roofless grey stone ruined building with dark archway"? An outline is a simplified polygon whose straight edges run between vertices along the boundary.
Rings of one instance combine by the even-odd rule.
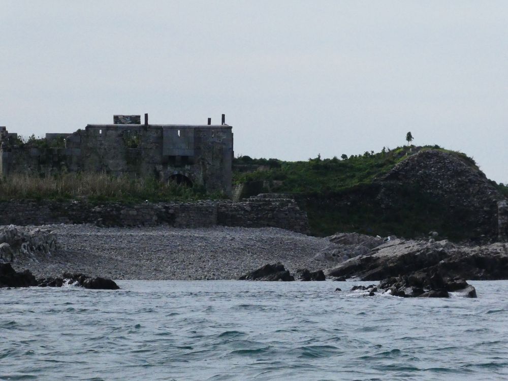
[[[232,127],[144,124],[140,115],[114,115],[113,124],[87,124],[73,133],[22,142],[0,127],[0,173],[44,176],[67,172],[155,177],[207,192],[231,194]]]

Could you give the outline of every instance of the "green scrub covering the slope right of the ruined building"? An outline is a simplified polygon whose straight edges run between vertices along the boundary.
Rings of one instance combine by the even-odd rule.
[[[456,218],[468,211],[445,210],[418,188],[397,185],[400,199],[390,210],[376,201],[379,185],[374,179],[388,173],[406,157],[426,149],[447,152],[479,170],[474,160],[461,152],[439,146],[403,146],[349,157],[342,154],[342,160],[322,159],[318,155],[306,162],[284,162],[240,156],[234,161],[233,178],[236,184],[248,185],[242,197],[261,192],[293,194],[307,212],[313,235],[359,232],[409,238],[426,235],[432,229],[451,239],[462,239],[474,227],[457,224]],[[508,187],[494,185],[508,195]]]

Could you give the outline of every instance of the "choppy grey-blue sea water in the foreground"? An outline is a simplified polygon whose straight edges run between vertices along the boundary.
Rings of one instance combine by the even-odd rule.
[[[2,380],[508,378],[508,281],[478,299],[365,282],[119,281],[0,290]]]

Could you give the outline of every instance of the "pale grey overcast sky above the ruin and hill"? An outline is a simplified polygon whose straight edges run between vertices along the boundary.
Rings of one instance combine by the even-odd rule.
[[[235,155],[438,144],[508,182],[506,1],[0,0],[0,125],[226,123]]]

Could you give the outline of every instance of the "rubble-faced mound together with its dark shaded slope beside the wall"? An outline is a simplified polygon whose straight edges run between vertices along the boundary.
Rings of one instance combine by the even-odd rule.
[[[437,231],[441,239],[455,242],[508,240],[505,197],[472,159],[440,149],[412,150],[418,152],[401,152],[403,160],[388,172],[382,169],[372,182],[296,195],[311,230],[320,235],[353,230],[414,239]],[[392,154],[386,156],[387,163],[378,157],[379,166],[391,165]]]

